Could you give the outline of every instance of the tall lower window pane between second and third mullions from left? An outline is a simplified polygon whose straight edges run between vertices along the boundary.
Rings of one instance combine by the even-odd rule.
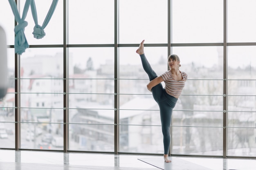
[[[69,149],[114,152],[114,49],[69,49]]]

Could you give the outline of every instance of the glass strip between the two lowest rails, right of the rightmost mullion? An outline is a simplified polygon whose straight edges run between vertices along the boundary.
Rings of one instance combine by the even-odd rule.
[[[256,113],[255,112],[229,112],[228,126],[255,128]]]

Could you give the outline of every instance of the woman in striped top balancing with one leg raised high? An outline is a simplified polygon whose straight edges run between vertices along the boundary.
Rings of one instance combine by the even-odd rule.
[[[162,133],[164,136],[164,161],[171,162],[171,160],[168,159],[168,152],[171,143],[171,116],[173,108],[181,95],[183,87],[185,86],[187,74],[179,70],[179,67],[181,66],[180,58],[173,54],[168,57],[168,66],[170,67],[170,70],[160,76],[157,76],[144,54],[144,41],[145,40],[140,43],[136,53],[141,57],[142,66],[150,80],[147,88],[152,92],[160,109]],[[163,81],[165,83],[165,88],[163,88],[161,84]]]

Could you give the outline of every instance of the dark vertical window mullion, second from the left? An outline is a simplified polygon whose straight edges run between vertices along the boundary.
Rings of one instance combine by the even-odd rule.
[[[63,151],[68,151],[68,56],[67,56],[67,2],[63,0]]]

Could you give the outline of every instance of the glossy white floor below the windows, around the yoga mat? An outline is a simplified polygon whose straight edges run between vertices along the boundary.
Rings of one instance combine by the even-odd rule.
[[[156,158],[146,155],[114,155],[63,153],[47,151],[0,150],[0,170],[160,170],[138,159]],[[178,157],[189,161],[191,166],[202,166],[206,170],[255,170],[255,159],[221,159]],[[174,159],[175,161],[175,159]],[[173,169],[173,168],[170,168]],[[179,170],[189,170],[181,163]]]

